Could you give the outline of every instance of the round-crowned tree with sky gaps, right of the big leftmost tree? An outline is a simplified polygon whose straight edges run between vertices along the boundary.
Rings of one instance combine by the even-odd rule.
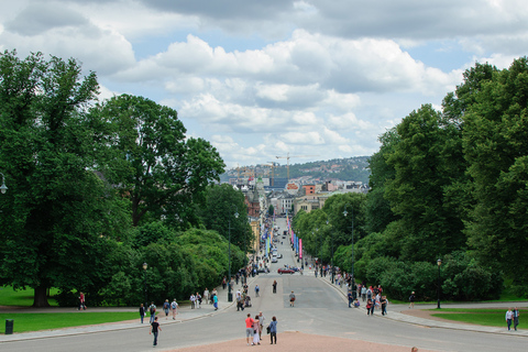
[[[186,136],[175,110],[129,95],[113,97],[92,111],[114,127],[119,172],[109,179],[132,201],[132,224],[165,219],[178,228],[193,219],[194,200],[223,172],[223,161],[211,144]]]

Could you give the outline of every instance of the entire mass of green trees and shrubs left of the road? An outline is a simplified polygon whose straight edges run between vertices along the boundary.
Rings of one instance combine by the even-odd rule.
[[[210,186],[219,153],[175,110],[98,91],[73,58],[0,54],[0,284],[34,288],[37,307],[50,287],[136,305],[145,280],[156,300],[218,285],[228,239],[237,270],[251,245],[243,195]]]

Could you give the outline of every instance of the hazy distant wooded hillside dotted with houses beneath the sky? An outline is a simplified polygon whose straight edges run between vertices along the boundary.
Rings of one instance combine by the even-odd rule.
[[[369,184],[371,169],[369,168],[370,156],[354,156],[348,158],[334,158],[330,161],[296,163],[289,165],[289,178],[309,176],[314,179],[324,182],[328,179],[354,180]],[[274,177],[287,177],[286,164],[274,167]],[[253,174],[256,177],[271,177],[271,167],[252,165],[233,168],[221,175],[221,182],[228,182],[229,178],[237,178],[239,175]]]

